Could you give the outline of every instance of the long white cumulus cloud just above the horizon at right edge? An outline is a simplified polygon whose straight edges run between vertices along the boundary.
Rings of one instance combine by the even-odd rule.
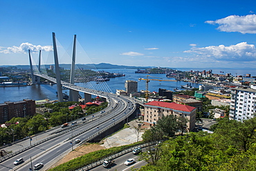
[[[231,46],[208,46],[205,48],[191,48],[184,51],[194,53],[196,57],[213,59],[217,61],[255,61],[256,49],[254,45],[247,42],[237,43]]]

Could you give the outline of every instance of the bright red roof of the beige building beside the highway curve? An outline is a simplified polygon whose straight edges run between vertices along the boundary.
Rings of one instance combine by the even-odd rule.
[[[167,103],[167,102],[163,102],[163,101],[150,101],[149,103],[145,103],[145,105],[154,105],[154,106],[159,106],[159,107],[163,107],[163,108],[170,108],[170,109],[174,109],[174,110],[181,110],[184,112],[192,112],[194,109],[194,107],[189,106],[189,105],[181,105],[181,104],[177,104],[177,103]]]

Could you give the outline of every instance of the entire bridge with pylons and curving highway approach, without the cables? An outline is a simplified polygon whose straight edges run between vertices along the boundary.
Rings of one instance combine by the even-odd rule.
[[[74,37],[74,42],[75,42]],[[100,136],[100,134],[107,132],[110,128],[121,122],[125,122],[128,117],[134,113],[136,110],[136,102],[134,99],[123,96],[116,96],[111,92],[103,92],[100,90],[93,90],[91,88],[84,88],[74,84],[74,65],[75,65],[75,43],[73,48],[73,61],[71,65],[71,81],[67,83],[66,81],[60,80],[60,70],[57,60],[57,48],[55,43],[55,34],[53,33],[53,50],[55,56],[55,73],[56,78],[49,77],[47,74],[40,72],[41,64],[41,52],[39,52],[39,67],[37,72],[33,70],[30,51],[28,52],[30,58],[30,72],[32,77],[32,83],[38,83],[40,78],[48,79],[54,83],[57,83],[57,94],[58,100],[63,101],[62,97],[62,86],[70,90],[70,101],[78,101],[78,92],[84,92],[84,101],[91,101],[91,95],[96,95],[104,98],[109,102],[109,106],[104,114],[100,112],[94,114],[92,117],[89,116],[86,119],[86,123],[80,123],[79,125],[72,126],[71,128],[61,131],[62,128],[57,128],[60,133],[49,134],[45,132],[45,137],[40,141],[35,141],[32,144],[30,141],[21,141],[19,144],[12,145],[4,150],[12,151],[9,157],[0,159],[2,170],[29,170],[31,168],[30,163],[42,162],[44,163],[44,168],[51,166],[54,161],[64,154],[71,151],[71,144],[73,150],[73,139],[81,139],[82,142],[91,141],[95,137]],[[91,117],[91,119],[90,119]],[[36,139],[34,137],[33,139]],[[71,143],[72,142],[72,143]],[[77,145],[74,145],[74,147]],[[19,147],[18,149],[15,147]],[[15,159],[24,158],[25,162],[21,165],[14,166],[13,161]],[[31,161],[31,162],[30,162]]]

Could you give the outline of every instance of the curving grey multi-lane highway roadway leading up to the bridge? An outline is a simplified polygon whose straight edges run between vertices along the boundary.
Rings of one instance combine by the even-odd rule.
[[[70,85],[69,85],[70,86]],[[75,86],[73,90],[78,90],[78,86]],[[69,87],[70,88],[70,87]],[[94,90],[95,91],[95,90]],[[88,90],[86,91],[89,92]],[[103,93],[102,93],[103,94]],[[101,95],[102,96],[102,95]],[[44,163],[44,167],[41,170],[46,170],[49,168],[53,163],[57,160],[64,157],[65,154],[71,151],[71,137],[73,135],[74,139],[81,139],[84,141],[89,141],[94,137],[98,136],[101,132],[106,131],[107,129],[113,127],[114,125],[125,121],[127,117],[129,117],[134,110],[136,109],[136,103],[134,100],[131,100],[129,97],[117,97],[115,94],[104,92],[104,96],[106,97],[107,101],[109,102],[109,109],[105,110],[104,114],[98,112],[95,114],[94,117],[91,117],[93,121],[87,117],[88,123],[77,123],[77,125],[69,126],[66,130],[70,130],[65,134],[60,135],[59,137],[50,139],[44,143],[40,143],[33,148],[30,148],[24,152],[17,154],[15,157],[7,159],[0,163],[0,171],[2,170],[29,170],[30,166],[30,157],[32,159],[32,165],[35,163],[42,162]],[[82,126],[78,126],[82,125]],[[57,128],[54,131],[61,130],[61,128]],[[44,137],[51,137],[52,132],[46,132]],[[41,137],[43,135],[40,135]],[[37,137],[33,137],[33,139],[37,139]],[[23,142],[23,143],[22,143]],[[28,143],[29,141],[21,142],[22,148],[24,144]],[[73,143],[73,148],[77,147],[79,144]],[[13,145],[14,148],[19,147],[19,145]],[[5,149],[5,150],[11,150]],[[12,151],[14,152],[14,151]],[[24,158],[24,163],[20,165],[13,165],[13,162],[16,159]]]

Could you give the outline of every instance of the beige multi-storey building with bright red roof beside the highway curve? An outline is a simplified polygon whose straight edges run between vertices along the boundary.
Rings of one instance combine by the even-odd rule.
[[[185,117],[188,119],[188,130],[194,130],[196,123],[196,108],[174,102],[150,101],[149,103],[145,103],[144,124],[152,126],[156,124],[156,121],[161,119],[163,115],[167,116],[170,114],[175,114],[178,117]]]

